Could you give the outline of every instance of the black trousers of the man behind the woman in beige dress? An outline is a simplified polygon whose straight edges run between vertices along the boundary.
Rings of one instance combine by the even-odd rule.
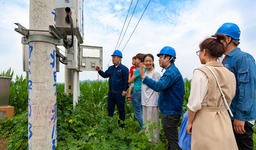
[[[232,127],[234,128],[234,120],[232,121]],[[253,140],[252,140],[252,134],[254,130],[252,129],[252,124],[250,122],[244,122],[244,134],[239,134],[234,131],[234,135],[236,138],[236,144],[238,146],[239,150],[253,150]]]

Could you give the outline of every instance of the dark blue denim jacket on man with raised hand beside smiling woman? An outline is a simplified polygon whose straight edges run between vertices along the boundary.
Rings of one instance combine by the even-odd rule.
[[[158,107],[164,115],[181,115],[184,101],[184,81],[180,71],[171,64],[158,82],[148,78],[142,81],[156,92],[160,92]]]

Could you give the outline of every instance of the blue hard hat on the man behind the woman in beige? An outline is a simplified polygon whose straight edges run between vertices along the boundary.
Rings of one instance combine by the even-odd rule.
[[[227,36],[230,36],[236,40],[240,40],[240,29],[236,24],[233,23],[225,23],[222,24],[222,26],[217,30],[216,33],[220,33],[220,34],[226,34]],[[215,35],[213,35],[212,37],[215,37]],[[216,38],[216,37],[215,37]]]

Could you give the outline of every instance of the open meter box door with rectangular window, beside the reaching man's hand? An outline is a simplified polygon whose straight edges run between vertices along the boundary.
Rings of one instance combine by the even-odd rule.
[[[102,47],[80,45],[80,71],[102,70]]]

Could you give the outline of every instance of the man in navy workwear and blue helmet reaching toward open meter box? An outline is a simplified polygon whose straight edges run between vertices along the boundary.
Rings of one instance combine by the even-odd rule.
[[[115,50],[112,56],[113,66],[110,66],[108,70],[103,72],[99,66],[96,66],[96,70],[103,78],[109,78],[109,92],[108,92],[108,116],[114,116],[115,106],[118,108],[119,119],[125,120],[125,96],[127,95],[127,89],[129,88],[128,76],[129,70],[126,66],[122,65],[121,60],[123,58],[120,50]],[[118,120],[118,124],[120,124]],[[120,125],[121,129],[124,128],[124,123]]]

